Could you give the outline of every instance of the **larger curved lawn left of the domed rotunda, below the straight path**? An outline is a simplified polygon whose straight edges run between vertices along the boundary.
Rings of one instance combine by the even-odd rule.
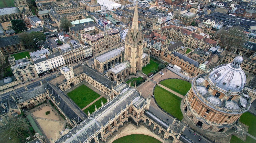
[[[159,87],[158,85],[155,87],[154,97],[156,99],[157,104],[162,109],[164,109],[165,111],[167,111],[179,120],[183,119],[183,115],[180,110],[180,102],[182,98],[163,89],[162,87]]]

